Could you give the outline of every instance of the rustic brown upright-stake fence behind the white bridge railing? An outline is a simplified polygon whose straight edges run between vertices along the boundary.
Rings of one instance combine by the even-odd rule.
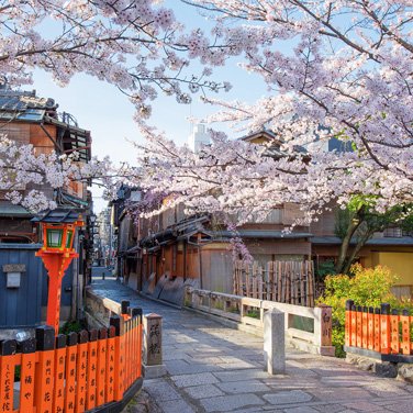
[[[233,283],[235,295],[314,306],[313,261],[236,261]]]

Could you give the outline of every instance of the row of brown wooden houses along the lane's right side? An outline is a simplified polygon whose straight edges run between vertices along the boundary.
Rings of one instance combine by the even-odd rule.
[[[271,155],[282,155],[280,142],[269,132],[245,139],[257,144],[271,139]],[[187,216],[183,205],[178,205],[133,223],[122,201],[118,201],[116,209],[119,274],[131,287],[170,301],[179,301],[185,283],[232,292],[231,239],[236,234],[227,231],[222,222],[210,214]],[[263,222],[253,220],[243,225],[238,235],[254,258],[263,264],[308,259],[311,256],[309,227],[297,226],[290,234],[282,233],[299,216],[298,205],[282,204]]]

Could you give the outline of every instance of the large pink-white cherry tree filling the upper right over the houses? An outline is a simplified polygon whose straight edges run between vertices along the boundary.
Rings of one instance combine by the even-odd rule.
[[[228,56],[258,74],[269,96],[222,107],[209,121],[237,131],[270,130],[257,146],[214,133],[200,154],[146,129],[150,158],[142,185],[170,190],[171,203],[226,211],[245,222],[283,202],[302,205],[297,223],[331,201],[368,196],[383,212],[412,201],[413,4],[411,0],[193,0],[216,19]],[[353,150],[326,152],[335,137]],[[306,153],[298,152],[298,147]]]

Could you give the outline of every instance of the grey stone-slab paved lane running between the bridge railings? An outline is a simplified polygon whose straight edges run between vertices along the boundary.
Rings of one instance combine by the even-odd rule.
[[[163,315],[168,376],[145,380],[144,389],[165,413],[413,413],[413,387],[404,382],[293,349],[287,373],[269,376],[260,337],[149,301],[113,280],[93,280],[93,290]]]

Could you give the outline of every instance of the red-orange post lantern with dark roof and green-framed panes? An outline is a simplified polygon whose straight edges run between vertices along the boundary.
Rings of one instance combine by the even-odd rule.
[[[47,212],[40,222],[43,230],[43,247],[36,253],[48,272],[47,320],[46,324],[59,331],[62,280],[71,260],[79,255],[75,252],[76,228],[83,225],[81,215],[72,210],[57,209]]]

